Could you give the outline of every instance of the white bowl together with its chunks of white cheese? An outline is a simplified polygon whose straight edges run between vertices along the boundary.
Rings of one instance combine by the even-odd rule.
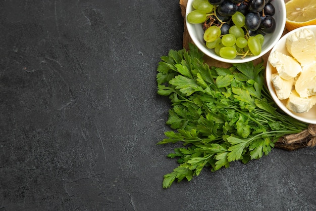
[[[316,124],[316,25],[292,30],[278,41],[268,57],[266,80],[285,113]]]

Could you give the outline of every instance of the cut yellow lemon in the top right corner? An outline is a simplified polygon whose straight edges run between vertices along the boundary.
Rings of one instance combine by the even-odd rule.
[[[290,0],[285,8],[287,30],[316,24],[316,0]]]

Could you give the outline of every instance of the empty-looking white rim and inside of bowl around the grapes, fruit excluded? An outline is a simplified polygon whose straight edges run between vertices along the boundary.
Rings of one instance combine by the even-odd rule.
[[[186,7],[186,14],[187,15],[194,10],[192,7],[193,0],[188,0],[187,7]],[[261,54],[258,56],[247,56],[246,58],[242,59],[241,56],[237,56],[235,59],[224,59],[220,56],[218,56],[214,49],[208,49],[205,46],[205,42],[203,40],[203,33],[204,30],[202,28],[202,24],[191,24],[186,21],[187,30],[189,32],[189,35],[193,41],[193,43],[197,46],[197,48],[203,52],[205,55],[216,59],[218,61],[226,62],[226,63],[244,63],[253,61],[257,58],[262,57],[266,53],[268,53],[274,45],[277,43],[277,41],[280,39],[280,37],[283,34],[284,28],[285,28],[285,21],[286,21],[286,10],[285,10],[285,3],[283,0],[273,0],[272,3],[273,6],[276,9],[276,13],[273,16],[276,20],[276,29],[271,34],[265,35],[265,41],[264,45],[262,46]]]

